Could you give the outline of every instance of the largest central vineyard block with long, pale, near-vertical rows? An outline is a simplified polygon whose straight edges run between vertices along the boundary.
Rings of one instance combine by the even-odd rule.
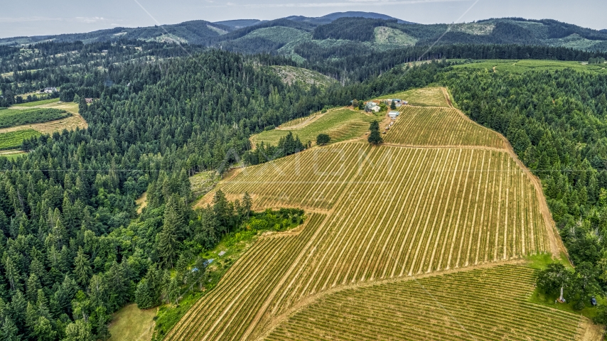
[[[273,313],[335,286],[548,249],[533,185],[507,153],[382,148],[392,148],[395,169],[363,169],[367,181],[344,190],[321,242],[291,279],[295,284],[281,290]]]

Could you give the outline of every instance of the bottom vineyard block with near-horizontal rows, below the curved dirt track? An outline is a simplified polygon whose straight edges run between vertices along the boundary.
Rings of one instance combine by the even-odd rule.
[[[527,301],[533,271],[505,265],[340,291],[267,340],[573,340],[580,316]]]

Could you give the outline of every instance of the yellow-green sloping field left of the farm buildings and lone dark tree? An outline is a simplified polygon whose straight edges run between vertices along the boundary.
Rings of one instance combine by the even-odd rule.
[[[308,141],[315,144],[316,136],[321,133],[331,136],[331,142],[344,141],[365,134],[365,131],[369,130],[370,122],[374,119],[375,117],[364,112],[345,108],[334,109],[325,114],[309,117],[308,120],[296,119],[294,121],[297,124],[294,124],[293,121],[286,122],[284,129],[263,131],[261,134],[251,136],[251,141],[254,145],[264,142],[264,144],[276,146],[279,139],[289,134],[289,131],[293,135],[299,136],[303,144]]]

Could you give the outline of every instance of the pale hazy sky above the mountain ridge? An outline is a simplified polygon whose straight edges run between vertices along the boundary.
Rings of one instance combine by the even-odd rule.
[[[385,13],[416,23],[517,16],[607,28],[606,0],[52,0],[3,1],[0,38],[153,26],[203,19],[275,19],[337,11]],[[458,20],[459,19],[459,20]]]

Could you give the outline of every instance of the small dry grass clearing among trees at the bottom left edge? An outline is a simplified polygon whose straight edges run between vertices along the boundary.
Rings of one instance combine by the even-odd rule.
[[[109,341],[149,341],[154,330],[157,308],[141,310],[136,304],[129,304],[112,316]]]

